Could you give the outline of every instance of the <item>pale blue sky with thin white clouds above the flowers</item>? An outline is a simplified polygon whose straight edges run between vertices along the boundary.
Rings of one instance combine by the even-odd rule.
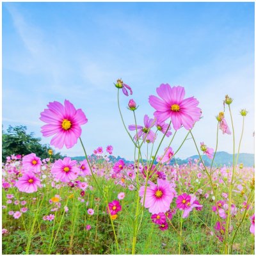
[[[40,112],[68,99],[88,118],[82,139],[89,153],[113,145],[116,156],[133,157],[118,115],[118,77],[134,92],[120,98],[127,125],[134,124],[129,99],[140,105],[141,124],[154,113],[148,95],[159,84],[181,85],[204,113],[196,141],[212,148],[215,116],[230,95],[237,143],[239,110],[249,111],[241,152],[253,153],[254,67],[254,3],[3,3],[4,129],[26,125],[41,136]],[[230,124],[228,113],[226,119]],[[174,150],[185,134],[179,130]],[[232,136],[220,134],[219,150],[232,152]],[[83,156],[79,144],[61,152]],[[177,156],[194,154],[188,140]]]

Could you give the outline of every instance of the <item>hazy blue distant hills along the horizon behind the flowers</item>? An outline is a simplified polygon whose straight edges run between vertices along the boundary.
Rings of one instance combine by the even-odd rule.
[[[95,157],[95,155],[92,155],[90,157]],[[235,155],[235,161],[236,161],[236,156]],[[133,163],[133,161],[129,161],[126,160],[124,157],[120,157],[120,156],[108,156],[109,157],[109,161],[111,161],[112,163],[115,163],[116,161],[122,159],[125,161],[125,163]],[[76,156],[76,157],[71,157],[72,160],[76,160],[76,161],[83,161],[85,159],[84,156]],[[199,156],[195,155],[195,156],[191,156],[188,157],[187,159],[180,159],[180,158],[174,158],[172,159],[172,161],[170,162],[170,164],[186,164],[189,162],[189,159],[198,159]],[[202,156],[202,159],[205,162],[206,166],[211,165],[211,159],[209,159],[207,156]],[[146,160],[144,160],[146,161]],[[155,164],[157,162],[155,161]],[[214,157],[214,166],[223,166],[223,164],[226,164],[226,166],[231,166],[233,163],[233,155],[232,154],[228,154],[227,152],[224,151],[220,151],[220,152],[216,152],[216,155]],[[241,164],[243,163],[244,166],[247,167],[251,167],[254,166],[254,154],[247,154],[247,153],[241,153],[239,154],[239,159],[238,159],[238,163],[237,164]]]

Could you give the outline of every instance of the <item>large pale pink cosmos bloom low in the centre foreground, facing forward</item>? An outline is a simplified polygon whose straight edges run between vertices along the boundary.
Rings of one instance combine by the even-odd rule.
[[[148,181],[149,186],[141,186],[140,196],[141,204],[143,205],[143,198],[145,194],[145,208],[152,214],[157,214],[158,212],[166,212],[170,208],[173,197],[175,195],[175,189],[167,180],[157,179],[157,185],[151,181]]]

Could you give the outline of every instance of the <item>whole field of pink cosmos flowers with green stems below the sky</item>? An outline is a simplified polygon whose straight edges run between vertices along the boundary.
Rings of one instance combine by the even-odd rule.
[[[118,154],[112,145],[87,154],[81,125],[86,129],[90,120],[83,110],[68,100],[50,102],[40,115],[42,135],[52,137],[52,148],[80,143],[84,159],[53,161],[52,150],[46,159],[34,152],[7,157],[2,171],[3,254],[254,254],[255,170],[238,163],[243,129],[236,134],[241,140],[233,163],[214,163],[218,133],[234,138],[233,123],[225,120],[227,115],[232,120],[233,99],[226,95],[225,108],[216,115],[216,145],[209,148],[193,136],[204,109],[195,97],[185,98],[183,87],[161,84],[157,96],[148,100],[154,116],[145,115],[143,122],[137,122],[138,106],[130,99],[134,124],[129,125],[119,103],[132,95],[132,88],[121,79],[115,87],[134,161],[110,157]],[[242,109],[240,114],[244,127],[248,113]],[[180,147],[172,148],[180,129],[188,133]],[[173,163],[188,139],[199,159]],[[161,150],[161,145],[167,147]]]

